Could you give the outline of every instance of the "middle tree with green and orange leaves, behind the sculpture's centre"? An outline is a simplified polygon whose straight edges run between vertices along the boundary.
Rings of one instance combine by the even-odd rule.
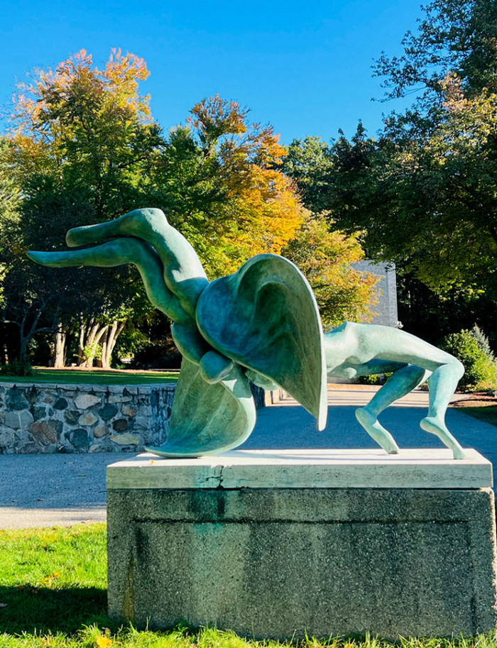
[[[203,99],[186,126],[171,131],[158,163],[155,203],[182,231],[212,277],[251,256],[273,252],[304,219],[300,198],[280,169],[286,152],[271,126],[218,95]]]

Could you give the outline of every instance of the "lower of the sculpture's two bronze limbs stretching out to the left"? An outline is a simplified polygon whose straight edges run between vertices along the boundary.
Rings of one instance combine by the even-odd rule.
[[[28,257],[41,265],[65,267],[67,265],[97,265],[112,268],[133,263],[138,268],[148,299],[155,308],[168,315],[174,322],[191,322],[178,297],[165,285],[163,264],[158,253],[139,238],[115,238],[114,241],[84,250],[65,252],[28,252]]]

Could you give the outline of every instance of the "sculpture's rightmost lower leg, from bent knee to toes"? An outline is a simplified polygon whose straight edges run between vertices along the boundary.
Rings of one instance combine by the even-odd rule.
[[[422,429],[438,436],[440,441],[452,450],[454,459],[464,459],[466,453],[447,429],[445,412],[447,412],[450,398],[463,373],[464,366],[456,358],[453,358],[453,362],[442,365],[432,373],[428,380],[430,407],[427,417],[420,422]]]

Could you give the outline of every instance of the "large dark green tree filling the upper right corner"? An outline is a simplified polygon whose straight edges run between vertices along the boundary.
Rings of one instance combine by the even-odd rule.
[[[294,174],[301,190],[317,190],[306,206],[327,209],[332,229],[361,231],[368,257],[395,261],[400,317],[435,342],[456,321],[493,336],[485,312],[497,292],[496,32],[493,1],[433,1],[403,55],[376,65],[386,99],[413,93],[410,109],[389,114],[376,139],[360,123],[350,140],[321,145],[324,173]],[[295,144],[300,158],[302,147],[312,153]]]

